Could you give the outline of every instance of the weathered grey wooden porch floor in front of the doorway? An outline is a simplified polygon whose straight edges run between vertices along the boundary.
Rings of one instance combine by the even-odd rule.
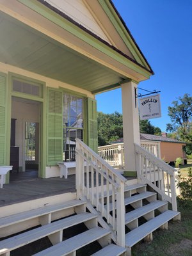
[[[0,189],[0,207],[17,204],[47,196],[76,192],[76,175],[68,179],[60,177],[38,179],[36,171],[12,173],[10,184],[4,184]]]

